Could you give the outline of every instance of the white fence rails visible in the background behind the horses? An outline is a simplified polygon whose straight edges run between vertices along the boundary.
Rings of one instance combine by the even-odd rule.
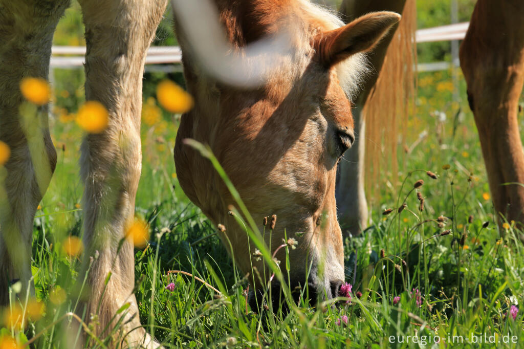
[[[457,23],[441,27],[419,29],[416,40],[419,42],[462,40],[469,23]],[[77,68],[85,63],[84,46],[53,46],[51,49],[51,68]],[[179,64],[182,51],[178,46],[154,46],[147,51],[146,64]],[[419,71],[444,70],[450,67],[447,62],[420,63]],[[178,69],[175,69],[178,70]]]

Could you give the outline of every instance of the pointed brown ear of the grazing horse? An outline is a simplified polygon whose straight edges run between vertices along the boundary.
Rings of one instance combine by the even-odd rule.
[[[331,67],[357,52],[373,49],[400,18],[395,12],[372,12],[341,28],[323,32],[315,40],[320,61]]]

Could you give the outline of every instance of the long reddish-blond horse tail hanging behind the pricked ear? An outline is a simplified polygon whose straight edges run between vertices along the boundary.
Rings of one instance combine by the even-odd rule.
[[[397,183],[398,144],[406,133],[406,127],[401,126],[407,124],[408,114],[414,111],[416,29],[416,1],[407,0],[402,20],[389,44],[377,82],[363,110],[366,122],[364,175],[368,198],[377,197],[377,189],[385,184],[384,180],[389,180],[393,186]],[[401,161],[405,162],[405,156],[402,156]],[[388,172],[391,176],[384,176]]]

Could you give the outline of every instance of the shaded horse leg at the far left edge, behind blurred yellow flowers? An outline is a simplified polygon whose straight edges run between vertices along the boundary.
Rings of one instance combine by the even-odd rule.
[[[20,112],[20,80],[48,78],[51,41],[69,0],[0,0],[0,140],[10,149],[0,166],[0,306],[13,280],[34,294],[31,235],[38,203],[57,162],[47,104]]]

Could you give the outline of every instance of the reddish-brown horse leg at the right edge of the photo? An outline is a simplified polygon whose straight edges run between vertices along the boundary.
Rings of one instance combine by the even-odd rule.
[[[460,48],[497,213],[524,222],[524,152],[517,121],[524,83],[524,3],[478,0]],[[499,217],[500,219],[500,217]]]

